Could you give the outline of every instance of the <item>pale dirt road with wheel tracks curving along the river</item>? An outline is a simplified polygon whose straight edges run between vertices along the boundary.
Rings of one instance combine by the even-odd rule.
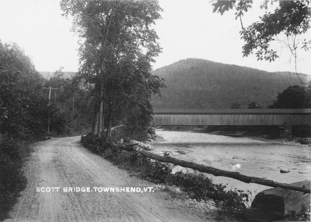
[[[165,200],[163,192],[95,190],[140,187],[143,191],[153,184],[130,176],[79,142],[80,137],[68,137],[36,144],[25,167],[27,188],[6,221],[207,221]],[[68,187],[90,187],[90,192],[64,192]]]

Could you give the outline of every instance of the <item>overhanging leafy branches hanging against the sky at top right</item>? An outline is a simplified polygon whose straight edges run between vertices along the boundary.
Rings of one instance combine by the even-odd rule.
[[[268,1],[265,1],[261,6],[267,9]],[[235,19],[240,18],[242,30],[240,31],[241,39],[245,41],[243,46],[243,57],[253,54],[257,50],[256,57],[258,60],[275,61],[277,51],[271,48],[272,41],[277,40],[278,36],[284,34],[287,38],[286,47],[290,48],[292,56],[295,58],[295,70],[299,77],[296,67],[297,48],[309,50],[311,40],[297,40],[301,34],[307,32],[310,28],[311,10],[309,7],[310,1],[272,1],[277,2],[278,7],[273,12],[266,12],[259,21],[244,28],[242,16],[252,7],[253,1],[216,1],[213,2],[213,12],[218,12],[221,15],[225,11],[235,8]],[[291,42],[291,43],[290,43]],[[299,77],[300,79],[300,77]],[[300,79],[301,83],[302,80]],[[304,83],[309,84],[309,83]]]

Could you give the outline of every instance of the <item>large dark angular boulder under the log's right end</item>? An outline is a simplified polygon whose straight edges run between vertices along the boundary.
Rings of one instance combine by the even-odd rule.
[[[310,180],[292,183],[292,185],[310,187]],[[300,215],[303,210],[310,208],[310,193],[273,188],[258,193],[251,207],[246,210],[248,220],[273,221],[286,215]]]

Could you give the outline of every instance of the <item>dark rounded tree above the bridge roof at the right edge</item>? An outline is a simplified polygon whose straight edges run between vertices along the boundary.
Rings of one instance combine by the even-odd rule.
[[[269,108],[304,109],[311,108],[311,86],[290,86],[279,93]]]

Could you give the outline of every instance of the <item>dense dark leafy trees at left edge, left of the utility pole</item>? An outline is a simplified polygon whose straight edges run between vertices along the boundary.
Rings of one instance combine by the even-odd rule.
[[[0,41],[0,130],[19,138],[45,134],[48,100],[42,95],[43,79],[16,43]]]

